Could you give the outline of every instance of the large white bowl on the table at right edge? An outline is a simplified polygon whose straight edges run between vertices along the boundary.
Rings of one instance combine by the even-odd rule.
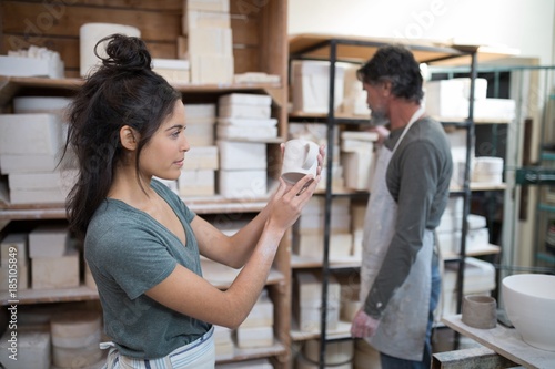
[[[503,278],[508,319],[523,340],[555,351],[555,276],[519,274]]]

